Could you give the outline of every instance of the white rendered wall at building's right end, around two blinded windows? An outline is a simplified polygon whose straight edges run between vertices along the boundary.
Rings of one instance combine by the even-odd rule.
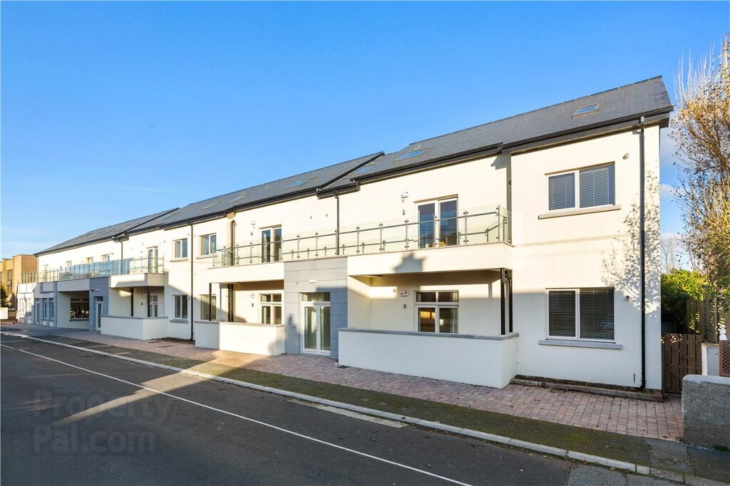
[[[646,130],[647,261],[658,263],[659,131]],[[624,156],[626,155],[626,158]],[[538,219],[548,212],[547,174],[615,163],[621,209]],[[519,374],[612,385],[641,381],[639,299],[639,136],[589,139],[512,156],[514,318]],[[647,266],[647,386],[661,388],[659,274]],[[614,287],[615,343],[621,350],[546,346],[549,288]],[[629,300],[626,300],[629,296]]]

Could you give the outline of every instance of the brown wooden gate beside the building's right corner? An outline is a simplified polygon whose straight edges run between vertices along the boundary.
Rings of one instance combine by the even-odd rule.
[[[702,374],[702,334],[666,333],[661,336],[662,389],[682,393],[686,374]]]

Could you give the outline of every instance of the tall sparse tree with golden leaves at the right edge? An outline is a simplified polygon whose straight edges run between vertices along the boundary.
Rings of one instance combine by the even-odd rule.
[[[730,52],[680,61],[672,139],[680,161],[676,197],[683,209],[685,245],[711,291],[730,306]]]

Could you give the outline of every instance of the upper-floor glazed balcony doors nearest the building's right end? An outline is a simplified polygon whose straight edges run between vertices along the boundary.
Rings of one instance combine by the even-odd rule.
[[[418,204],[418,247],[449,247],[458,244],[457,200],[444,199]]]

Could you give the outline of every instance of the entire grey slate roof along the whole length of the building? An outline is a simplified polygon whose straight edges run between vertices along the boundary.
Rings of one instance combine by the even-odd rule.
[[[574,116],[577,109],[598,105],[586,115]],[[553,104],[502,120],[466,128],[450,134],[423,139],[387,155],[374,153],[353,160],[326,166],[303,174],[237,190],[205,199],[188,206],[168,209],[154,215],[107,226],[56,244],[37,255],[104,241],[115,236],[150,231],[155,228],[187,224],[224,215],[234,209],[266,204],[306,193],[350,188],[356,182],[407,168],[415,168],[480,150],[498,153],[510,146],[547,139],[552,136],[585,131],[636,119],[641,115],[661,115],[672,110],[669,94],[661,77],[634,82],[619,88]]]

